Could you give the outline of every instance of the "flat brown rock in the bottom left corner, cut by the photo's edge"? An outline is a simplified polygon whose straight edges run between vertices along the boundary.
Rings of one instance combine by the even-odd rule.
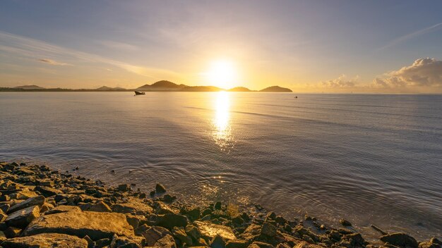
[[[4,248],[33,248],[33,247],[57,247],[57,248],[87,248],[88,242],[79,237],[59,234],[42,233],[28,237],[15,237],[1,243]]]

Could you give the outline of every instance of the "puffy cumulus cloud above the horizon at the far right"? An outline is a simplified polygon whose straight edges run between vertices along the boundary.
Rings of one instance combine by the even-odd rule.
[[[374,87],[434,87],[442,85],[442,61],[419,58],[411,66],[376,77]]]

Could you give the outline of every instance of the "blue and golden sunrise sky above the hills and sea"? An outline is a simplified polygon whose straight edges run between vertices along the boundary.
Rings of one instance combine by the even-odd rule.
[[[425,0],[4,0],[0,87],[135,88],[169,80],[442,93],[441,13],[442,1]],[[220,63],[228,70],[211,68]]]

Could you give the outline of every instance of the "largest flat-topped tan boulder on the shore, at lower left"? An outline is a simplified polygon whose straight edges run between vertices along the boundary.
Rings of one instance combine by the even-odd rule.
[[[133,236],[133,228],[121,213],[100,213],[93,211],[68,211],[41,216],[24,231],[24,235],[39,233],[64,233],[92,240],[119,236]]]

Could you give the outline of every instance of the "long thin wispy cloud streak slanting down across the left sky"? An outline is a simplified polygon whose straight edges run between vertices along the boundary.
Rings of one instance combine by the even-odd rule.
[[[20,35],[13,35],[8,32],[0,31],[0,51],[6,51],[11,54],[16,54],[23,57],[37,59],[42,63],[49,63],[45,57],[61,58],[63,60],[76,60],[79,63],[102,63],[106,66],[115,66],[124,69],[130,73],[136,73],[145,77],[150,77],[156,80],[180,77],[179,73],[172,70],[163,70],[160,68],[151,68],[144,66],[136,66],[131,63],[117,61],[112,58],[106,58],[96,54],[85,53],[74,49],[68,49],[62,46],[56,46],[43,42],[37,39],[22,37]],[[104,66],[104,65],[103,65]]]

